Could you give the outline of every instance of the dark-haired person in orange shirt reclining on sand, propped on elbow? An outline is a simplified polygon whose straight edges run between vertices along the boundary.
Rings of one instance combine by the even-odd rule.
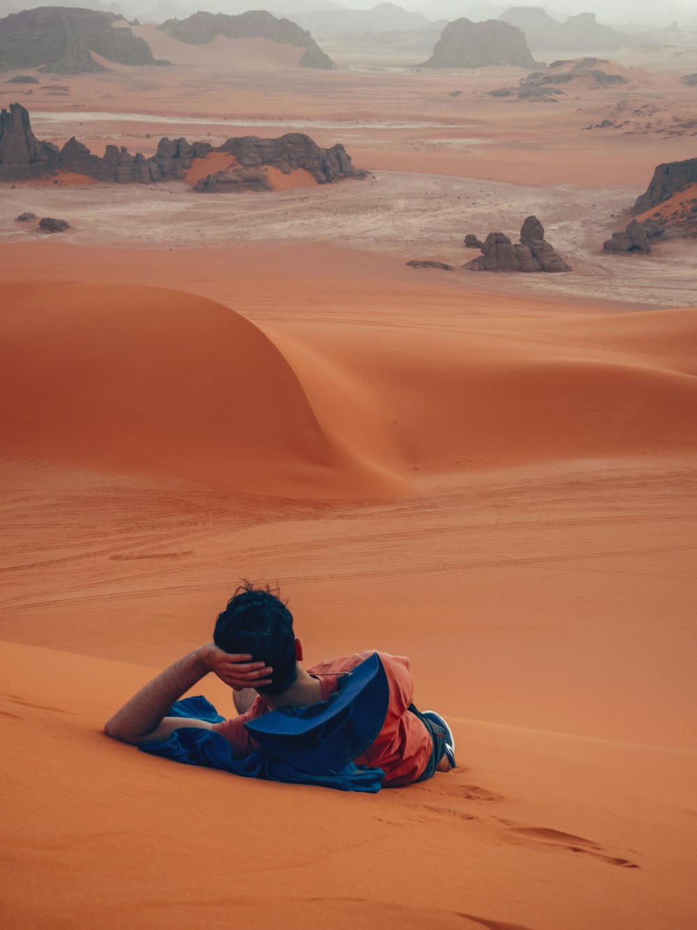
[[[166,740],[182,725],[201,727],[225,737],[235,758],[244,758],[259,750],[246,724],[277,708],[314,709],[322,702],[331,707],[333,696],[350,678],[347,673],[376,655],[379,663],[373,661],[382,666],[388,684],[386,712],[377,736],[352,761],[382,769],[382,784],[391,788],[425,781],[454,767],[449,725],[434,711],[414,707],[408,658],[366,651],[329,658],[306,671],[300,664],[303,649],[290,611],[269,588],[249,583],[235,591],[218,616],[213,638],[213,643],[178,659],[131,697],[105,724],[107,736],[139,746]],[[210,671],[232,688],[239,716],[218,724],[191,718],[184,724],[181,717],[166,716]]]

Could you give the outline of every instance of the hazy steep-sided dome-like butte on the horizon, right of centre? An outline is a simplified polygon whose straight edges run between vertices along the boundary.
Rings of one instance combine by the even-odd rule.
[[[489,64],[538,68],[525,36],[500,20],[471,22],[465,18],[445,26],[424,68],[483,68]]]

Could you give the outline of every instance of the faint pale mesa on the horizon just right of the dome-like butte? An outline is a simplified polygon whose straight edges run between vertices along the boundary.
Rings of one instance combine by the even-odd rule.
[[[595,13],[579,13],[566,22],[552,19],[541,7],[511,7],[500,20],[518,26],[528,45],[536,52],[601,52],[617,48],[626,36],[596,20]]]

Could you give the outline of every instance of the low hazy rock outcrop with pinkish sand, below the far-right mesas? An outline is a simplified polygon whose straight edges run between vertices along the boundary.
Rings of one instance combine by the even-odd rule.
[[[622,73],[624,69],[614,61],[598,58],[563,59],[552,61],[546,71],[526,74],[517,87],[502,87],[490,90],[490,97],[513,97],[540,103],[556,103],[565,91],[560,87],[580,86],[588,90],[600,87],[619,87],[628,83]],[[570,88],[567,88],[570,89]]]

